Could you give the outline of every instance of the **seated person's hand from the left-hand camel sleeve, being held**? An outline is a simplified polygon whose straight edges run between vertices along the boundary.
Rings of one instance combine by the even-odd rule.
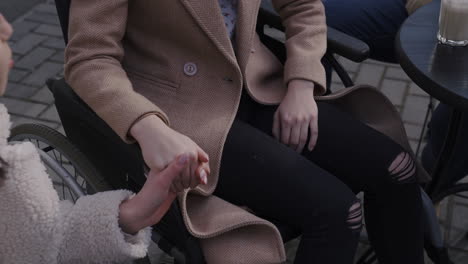
[[[156,115],[138,121],[130,129],[130,134],[138,141],[146,164],[155,172],[162,171],[178,155],[188,153],[188,166],[174,180],[172,192],[207,183],[210,174],[208,154],[189,137],[168,127]]]

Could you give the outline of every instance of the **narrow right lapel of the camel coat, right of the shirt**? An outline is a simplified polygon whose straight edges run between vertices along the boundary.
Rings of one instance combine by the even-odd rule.
[[[242,73],[252,52],[252,41],[257,25],[261,0],[238,0],[236,24],[236,54]]]

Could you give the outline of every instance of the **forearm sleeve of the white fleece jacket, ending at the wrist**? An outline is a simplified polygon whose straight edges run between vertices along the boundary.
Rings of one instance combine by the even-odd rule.
[[[130,195],[117,190],[85,196],[75,204],[62,201],[58,263],[121,263],[146,256],[151,228],[130,236],[119,227],[119,205]]]

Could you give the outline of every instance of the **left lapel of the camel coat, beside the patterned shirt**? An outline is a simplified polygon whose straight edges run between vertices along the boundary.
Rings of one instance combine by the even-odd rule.
[[[218,0],[180,0],[221,53],[236,63]]]

